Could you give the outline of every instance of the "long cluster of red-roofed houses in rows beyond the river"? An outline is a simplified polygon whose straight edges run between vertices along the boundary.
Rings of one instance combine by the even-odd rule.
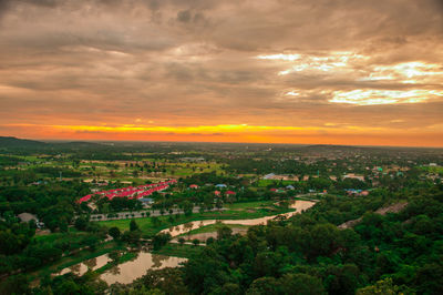
[[[175,183],[177,183],[176,180],[171,180],[171,181],[164,181],[164,182],[158,182],[158,183],[138,185],[135,187],[127,186],[127,187],[123,187],[123,189],[114,189],[114,190],[109,190],[109,191],[96,192],[95,194],[89,194],[89,195],[83,196],[82,199],[79,200],[79,203],[90,201],[93,195],[106,196],[109,200],[112,200],[114,197],[123,197],[123,196],[127,196],[130,199],[133,199],[133,197],[142,199],[142,197],[153,194],[154,192],[159,192],[159,191],[166,190],[167,187],[169,187],[171,184],[175,184]]]

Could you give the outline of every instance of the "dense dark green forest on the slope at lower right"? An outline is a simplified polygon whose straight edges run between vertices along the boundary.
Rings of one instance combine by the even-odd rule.
[[[373,213],[405,201],[399,213]],[[360,216],[353,228],[337,227]],[[245,236],[222,227],[209,240],[183,268],[148,272],[112,286],[113,294],[443,293],[442,185],[379,191],[371,200],[327,197]]]

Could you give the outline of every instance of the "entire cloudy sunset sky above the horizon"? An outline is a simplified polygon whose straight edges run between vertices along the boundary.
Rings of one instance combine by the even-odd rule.
[[[443,146],[443,1],[0,0],[0,135]]]

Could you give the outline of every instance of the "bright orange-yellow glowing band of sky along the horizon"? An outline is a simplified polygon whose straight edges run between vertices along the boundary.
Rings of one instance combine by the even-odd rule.
[[[401,123],[401,122],[394,122]],[[31,130],[37,140],[87,140],[87,141],[169,141],[169,142],[236,142],[236,143],[287,143],[287,144],[342,144],[342,145],[391,145],[437,148],[439,141],[418,145],[409,141],[411,132],[419,136],[432,134],[429,130],[395,131],[385,128],[341,126],[324,123],[323,126],[264,126],[248,124],[200,125],[200,126],[156,126],[156,125],[33,125],[16,124],[10,128]],[[39,130],[39,132],[37,131]],[[39,136],[40,134],[40,136]],[[43,135],[44,134],[44,135]],[[27,138],[27,133],[23,133]],[[442,134],[443,135],[443,134]],[[53,136],[53,138],[51,138]],[[111,138],[110,138],[111,136]],[[365,140],[362,140],[362,136]],[[374,144],[374,140],[379,144]]]

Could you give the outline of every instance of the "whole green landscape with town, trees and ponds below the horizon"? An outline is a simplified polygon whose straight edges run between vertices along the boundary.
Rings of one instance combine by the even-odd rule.
[[[437,294],[442,164],[441,149],[1,138],[1,289]]]

